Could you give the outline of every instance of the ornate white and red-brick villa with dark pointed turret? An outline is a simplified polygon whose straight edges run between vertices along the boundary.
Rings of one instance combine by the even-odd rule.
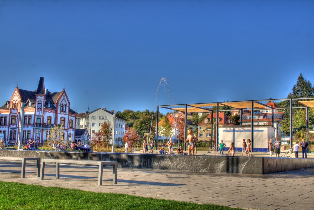
[[[66,91],[49,92],[41,77],[37,90],[15,87],[10,100],[0,107],[0,133],[4,134],[6,143],[17,142],[21,124],[23,141],[36,139],[43,143],[53,125],[62,124],[64,139],[72,140],[75,136],[76,115],[70,108]]]

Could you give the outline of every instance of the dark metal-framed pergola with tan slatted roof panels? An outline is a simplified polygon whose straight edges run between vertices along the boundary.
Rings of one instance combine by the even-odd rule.
[[[265,101],[285,101],[289,100],[289,107],[270,107],[264,104]],[[300,106],[293,106],[293,102],[298,103]],[[184,122],[184,139],[187,138],[187,113],[211,113],[211,131],[213,133],[213,113],[216,110],[219,110],[219,106],[227,106],[233,108],[234,110],[240,111],[240,125],[242,125],[242,111],[251,110],[251,140],[252,140],[252,151],[254,148],[254,110],[266,110],[272,109],[272,125],[274,125],[274,109],[289,109],[290,111],[290,146],[292,147],[292,109],[294,108],[306,108],[306,129],[309,128],[309,108],[314,108],[314,97],[306,98],[280,98],[280,99],[263,99],[263,100],[250,100],[250,101],[233,101],[233,102],[212,102],[212,103],[194,103],[194,104],[175,104],[175,105],[161,105],[157,106],[157,124],[156,124],[156,147],[158,140],[158,118],[159,118],[159,108],[166,108],[171,110],[180,111],[185,113],[185,122]],[[176,108],[179,107],[179,108]],[[213,110],[213,107],[216,107],[216,110]],[[228,110],[219,110],[219,112],[226,112]],[[217,114],[217,117],[219,114]],[[306,132],[307,138],[307,132]],[[213,135],[211,135],[211,142],[213,142]],[[216,120],[216,147],[219,143],[219,121]],[[184,144],[184,150],[186,150],[186,144]]]

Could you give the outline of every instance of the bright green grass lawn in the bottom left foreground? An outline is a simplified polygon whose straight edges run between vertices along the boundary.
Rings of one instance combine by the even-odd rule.
[[[124,194],[0,181],[0,209],[235,209]],[[239,209],[239,208],[238,208]]]

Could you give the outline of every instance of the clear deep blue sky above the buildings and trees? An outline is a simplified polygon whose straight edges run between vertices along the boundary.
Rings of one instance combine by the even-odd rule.
[[[175,104],[282,98],[314,83],[314,1],[0,0],[0,70],[0,103],[43,76],[77,112],[152,110],[163,76]]]

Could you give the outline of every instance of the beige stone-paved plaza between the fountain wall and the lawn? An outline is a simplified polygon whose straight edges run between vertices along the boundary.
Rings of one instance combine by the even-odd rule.
[[[102,186],[97,166],[61,165],[60,180],[55,169],[46,164],[40,180],[35,163],[28,163],[21,179],[21,163],[0,161],[0,180],[248,209],[314,209],[314,168],[267,175],[118,168],[114,185],[112,167],[104,167]]]

